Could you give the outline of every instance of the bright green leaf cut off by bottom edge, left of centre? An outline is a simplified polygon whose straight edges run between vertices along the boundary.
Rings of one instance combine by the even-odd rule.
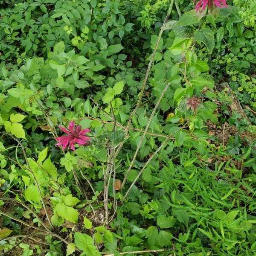
[[[93,239],[87,234],[76,232],[74,235],[76,247],[82,250],[86,256],[101,256],[93,245]]]

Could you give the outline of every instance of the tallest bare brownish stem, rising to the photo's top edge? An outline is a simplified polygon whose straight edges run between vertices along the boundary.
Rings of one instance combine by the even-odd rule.
[[[151,69],[151,66],[152,66],[152,63],[153,63],[153,60],[154,60],[154,56],[155,56],[155,54],[156,54],[156,52],[157,52],[157,48],[158,48],[158,45],[159,45],[159,43],[160,43],[160,39],[161,39],[161,37],[162,37],[162,35],[163,35],[163,31],[164,31],[164,29],[165,29],[166,22],[167,22],[167,20],[168,20],[170,14],[171,14],[171,12],[172,12],[173,3],[174,3],[174,0],[171,0],[169,9],[168,9],[167,14],[166,14],[166,18],[165,18],[165,20],[164,20],[164,22],[163,22],[163,26],[161,26],[159,35],[158,35],[158,37],[157,37],[157,42],[156,42],[156,45],[155,45],[154,50],[153,50],[153,52],[152,52],[150,61],[149,61],[149,63],[148,63],[148,68],[147,68],[147,71],[146,71],[146,74],[145,74],[145,79],[144,79],[144,81],[143,81],[143,84],[142,84],[142,87],[141,87],[141,90],[140,90],[140,96],[139,96],[139,99],[138,99],[138,101],[137,101],[137,105],[136,105],[136,107],[134,108],[134,111],[131,113],[130,118],[128,119],[126,135],[128,134],[128,131],[129,131],[129,128],[130,128],[130,125],[131,125],[132,118],[133,118],[133,116],[135,115],[135,113],[137,112],[138,108],[140,107],[140,103],[141,103],[142,96],[143,96],[143,93],[144,93],[144,90],[145,90],[145,85],[146,85],[146,83],[147,83],[147,81],[148,81],[148,76],[149,76],[149,72],[150,72],[150,69]],[[116,150],[116,156],[119,154],[119,152],[120,152],[122,146],[124,145],[124,143],[125,143],[125,141],[123,141],[123,142],[119,145],[118,149]]]

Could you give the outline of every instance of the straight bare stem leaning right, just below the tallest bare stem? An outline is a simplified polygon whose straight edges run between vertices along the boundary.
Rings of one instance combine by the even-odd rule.
[[[163,91],[162,91],[162,93],[161,93],[159,99],[157,100],[157,103],[156,103],[156,105],[155,105],[155,107],[154,107],[154,109],[153,109],[153,111],[152,111],[152,113],[151,113],[151,116],[150,116],[150,118],[148,119],[148,123],[147,123],[147,125],[146,125],[146,127],[145,127],[145,131],[143,132],[143,135],[142,135],[141,138],[140,138],[140,142],[139,142],[138,145],[137,145],[137,149],[136,149],[136,151],[135,151],[134,157],[133,157],[133,159],[132,159],[132,161],[131,161],[131,163],[130,163],[130,165],[129,165],[129,167],[128,167],[128,170],[127,170],[127,172],[126,172],[126,174],[125,174],[124,180],[123,180],[123,182],[122,182],[121,189],[122,189],[123,186],[125,185],[125,182],[126,182],[126,180],[127,180],[127,177],[128,177],[128,175],[129,175],[129,173],[130,173],[130,171],[131,171],[131,169],[132,169],[132,167],[133,167],[133,165],[134,165],[134,162],[135,162],[135,160],[136,160],[137,154],[138,154],[138,152],[139,152],[139,150],[140,150],[140,146],[141,146],[141,144],[142,144],[142,142],[143,142],[143,139],[144,139],[144,137],[145,137],[145,135],[146,135],[146,132],[148,131],[148,127],[149,127],[149,125],[150,125],[150,123],[151,123],[151,120],[152,120],[152,118],[153,118],[155,112],[157,111],[157,108],[158,108],[158,106],[159,106],[159,104],[160,104],[160,102],[161,102],[161,100],[162,100],[162,98],[163,98],[163,96],[164,96],[166,90],[169,88],[169,86],[170,86],[170,84],[167,84],[166,87],[163,89]],[[170,137],[167,137],[167,139],[169,140]],[[167,140],[167,139],[166,139],[166,140]]]

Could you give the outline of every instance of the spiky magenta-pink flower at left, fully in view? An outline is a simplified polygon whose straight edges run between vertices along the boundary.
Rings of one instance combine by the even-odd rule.
[[[75,126],[75,121],[70,122],[68,125],[68,129],[59,126],[59,128],[67,134],[67,136],[56,137],[57,146],[62,147],[63,149],[71,148],[75,150],[74,145],[78,144],[81,145],[89,145],[90,137],[85,136],[87,132],[90,132],[89,129],[81,130],[81,125]]]

